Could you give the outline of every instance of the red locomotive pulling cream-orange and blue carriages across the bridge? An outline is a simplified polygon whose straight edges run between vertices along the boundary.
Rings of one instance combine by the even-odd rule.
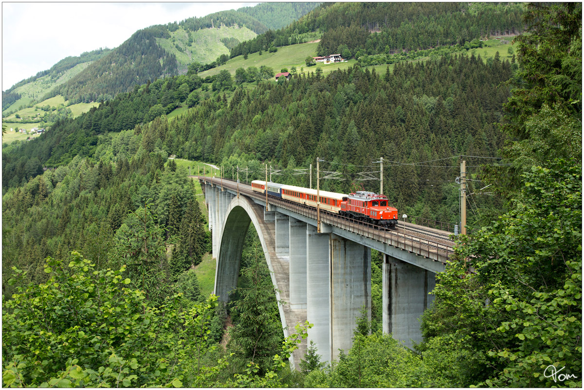
[[[267,188],[266,188],[267,187]],[[262,180],[252,181],[252,190],[286,199],[301,205],[317,207],[317,190],[294,185],[278,184]],[[378,226],[394,227],[398,223],[398,209],[390,206],[387,196],[369,191],[352,194],[319,191],[320,208],[341,216],[373,223]]]

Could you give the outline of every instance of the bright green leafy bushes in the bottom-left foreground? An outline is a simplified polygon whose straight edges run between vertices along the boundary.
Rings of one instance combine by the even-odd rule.
[[[216,297],[187,311],[176,306],[178,296],[151,307],[129,288],[124,268],[96,270],[77,252],[68,264],[48,258],[47,283],[18,287],[3,302],[4,384],[180,387],[183,362],[208,348]]]

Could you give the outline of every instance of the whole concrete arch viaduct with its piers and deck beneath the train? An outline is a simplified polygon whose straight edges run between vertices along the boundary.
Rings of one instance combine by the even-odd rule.
[[[451,247],[405,233],[377,229],[284,199],[253,192],[249,185],[198,177],[208,206],[216,259],[215,294],[227,302],[237,287],[239,261],[253,223],[276,287],[284,336],[308,319],[308,340],[321,361],[338,359],[352,346],[361,308],[371,318],[371,248],[384,254],[383,332],[406,346],[422,339],[418,318],[433,300],[436,273]],[[447,232],[442,232],[447,234]],[[310,341],[303,340],[291,363],[298,367]]]

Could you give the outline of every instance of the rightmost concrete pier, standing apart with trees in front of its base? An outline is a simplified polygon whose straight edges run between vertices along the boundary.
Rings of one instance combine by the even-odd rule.
[[[383,332],[412,347],[422,341],[419,318],[434,296],[436,274],[390,255],[383,262]]]

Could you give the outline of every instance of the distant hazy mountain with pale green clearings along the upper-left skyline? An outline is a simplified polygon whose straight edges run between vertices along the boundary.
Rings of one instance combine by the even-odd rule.
[[[149,80],[186,73],[192,62],[210,64],[221,55],[227,58],[230,50],[242,41],[252,40],[269,28],[281,27],[315,6],[317,3],[260,4],[258,9],[245,7],[241,12],[227,10],[151,26],[137,31],[113,50],[68,57],[48,71],[22,80],[3,92],[2,109],[13,113],[21,106],[59,94],[69,103],[112,99],[117,93],[128,92]],[[82,62],[84,65],[74,68]],[[64,75],[66,66],[71,71]],[[50,80],[41,79],[47,75]]]

